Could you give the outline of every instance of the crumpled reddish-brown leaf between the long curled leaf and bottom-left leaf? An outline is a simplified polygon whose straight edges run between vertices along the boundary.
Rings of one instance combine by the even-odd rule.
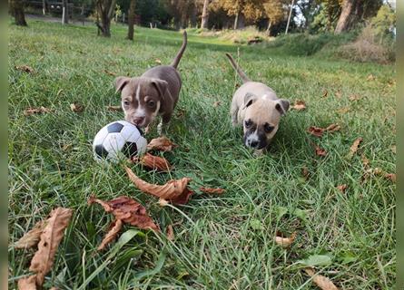
[[[153,219],[147,215],[146,208],[132,198],[121,196],[109,201],[103,201],[91,196],[87,203],[91,205],[94,202],[102,205],[106,212],[112,213],[116,219],[122,219],[126,224],[160,231],[160,228],[154,224]]]

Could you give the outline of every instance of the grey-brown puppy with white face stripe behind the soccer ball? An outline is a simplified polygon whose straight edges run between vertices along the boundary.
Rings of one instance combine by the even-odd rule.
[[[162,133],[162,126],[170,121],[178,101],[182,82],[177,66],[186,45],[187,34],[183,32],[181,49],[170,65],[155,66],[140,77],[120,76],[115,79],[116,91],[121,92],[126,121],[143,128],[161,115],[158,131]]]

